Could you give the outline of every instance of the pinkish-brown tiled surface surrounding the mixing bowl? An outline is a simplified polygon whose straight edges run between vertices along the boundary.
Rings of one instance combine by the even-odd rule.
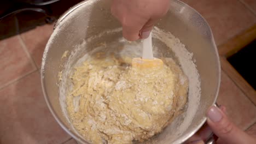
[[[210,23],[218,45],[256,23],[256,1],[241,0],[250,9],[240,0],[184,1]],[[52,32],[53,25],[45,25],[0,41],[0,143],[76,144],[51,116],[40,87],[40,62]],[[218,103],[240,128],[255,129],[255,105],[224,72],[221,84]]]

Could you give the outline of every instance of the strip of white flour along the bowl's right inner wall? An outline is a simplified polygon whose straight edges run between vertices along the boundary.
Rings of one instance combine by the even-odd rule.
[[[179,128],[176,129],[178,130],[176,133],[179,135],[188,128],[198,109],[201,97],[200,75],[196,69],[195,61],[193,60],[193,53],[189,52],[178,38],[175,38],[171,33],[166,33],[157,27],[154,28],[153,37],[165,43],[175,53],[184,74],[187,75],[189,79],[189,102],[184,120]]]

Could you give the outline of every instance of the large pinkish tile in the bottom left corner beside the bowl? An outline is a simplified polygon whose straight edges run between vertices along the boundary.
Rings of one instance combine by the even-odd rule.
[[[71,138],[51,115],[39,72],[0,90],[1,143],[63,143]]]

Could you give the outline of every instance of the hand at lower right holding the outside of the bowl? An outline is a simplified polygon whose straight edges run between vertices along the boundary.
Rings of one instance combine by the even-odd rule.
[[[209,138],[213,132],[219,137],[217,143],[256,143],[256,137],[245,133],[245,131],[239,129],[234,123],[232,123],[225,114],[226,110],[224,106],[220,106],[220,109],[215,106],[211,106],[207,112],[207,124],[200,129],[197,134],[190,137],[185,142],[186,144],[203,144]]]

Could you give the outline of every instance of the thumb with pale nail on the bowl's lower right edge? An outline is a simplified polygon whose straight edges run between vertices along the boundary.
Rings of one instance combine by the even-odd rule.
[[[225,143],[251,143],[251,137],[237,128],[218,107],[211,106],[207,112],[207,123],[214,134]]]

